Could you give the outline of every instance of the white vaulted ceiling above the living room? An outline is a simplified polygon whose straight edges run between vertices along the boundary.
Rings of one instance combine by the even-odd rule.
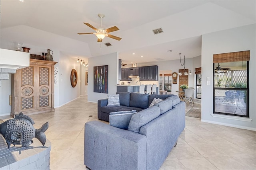
[[[255,0],[1,0],[0,31],[6,41],[47,44],[70,57],[118,52],[127,64],[167,61],[200,56],[203,34],[256,23],[255,9]],[[100,27],[99,13],[102,27],[120,29],[111,33],[120,41],[77,34],[94,31],[83,22]]]

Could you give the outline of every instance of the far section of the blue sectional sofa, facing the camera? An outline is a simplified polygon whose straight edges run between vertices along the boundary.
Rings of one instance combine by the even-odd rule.
[[[109,121],[109,113],[116,111],[142,111],[150,106],[154,98],[166,99],[173,94],[139,94],[134,92],[117,92],[120,95],[120,106],[107,106],[108,99],[98,100],[98,119]]]

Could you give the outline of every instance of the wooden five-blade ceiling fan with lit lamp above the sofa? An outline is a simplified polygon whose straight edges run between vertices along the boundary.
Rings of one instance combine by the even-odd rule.
[[[102,39],[104,39],[104,37],[110,37],[112,39],[116,39],[118,41],[120,41],[120,37],[116,37],[114,35],[111,35],[109,34],[110,32],[113,32],[113,31],[118,31],[119,28],[114,26],[114,27],[110,27],[108,29],[104,29],[102,28],[102,18],[104,18],[104,14],[98,14],[98,16],[100,17],[100,27],[98,28],[95,28],[94,26],[92,26],[90,23],[85,23],[85,25],[87,25],[88,27],[91,27],[92,29],[94,29],[96,32],[95,33],[78,33],[79,35],[82,35],[82,34],[95,34],[98,38],[98,42],[102,42]]]

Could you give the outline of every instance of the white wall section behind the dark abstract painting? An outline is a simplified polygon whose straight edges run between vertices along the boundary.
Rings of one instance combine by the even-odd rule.
[[[88,102],[97,102],[108,98],[108,94],[116,94],[118,84],[118,53],[111,53],[88,59]],[[108,65],[108,94],[93,92],[93,67]]]

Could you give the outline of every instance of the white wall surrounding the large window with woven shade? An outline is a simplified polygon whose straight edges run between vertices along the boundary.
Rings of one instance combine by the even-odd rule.
[[[255,24],[202,35],[202,121],[256,130],[256,26]],[[247,121],[213,117],[213,54],[250,50],[249,117]],[[210,77],[210,85],[206,85]],[[237,117],[237,116],[236,116]]]

